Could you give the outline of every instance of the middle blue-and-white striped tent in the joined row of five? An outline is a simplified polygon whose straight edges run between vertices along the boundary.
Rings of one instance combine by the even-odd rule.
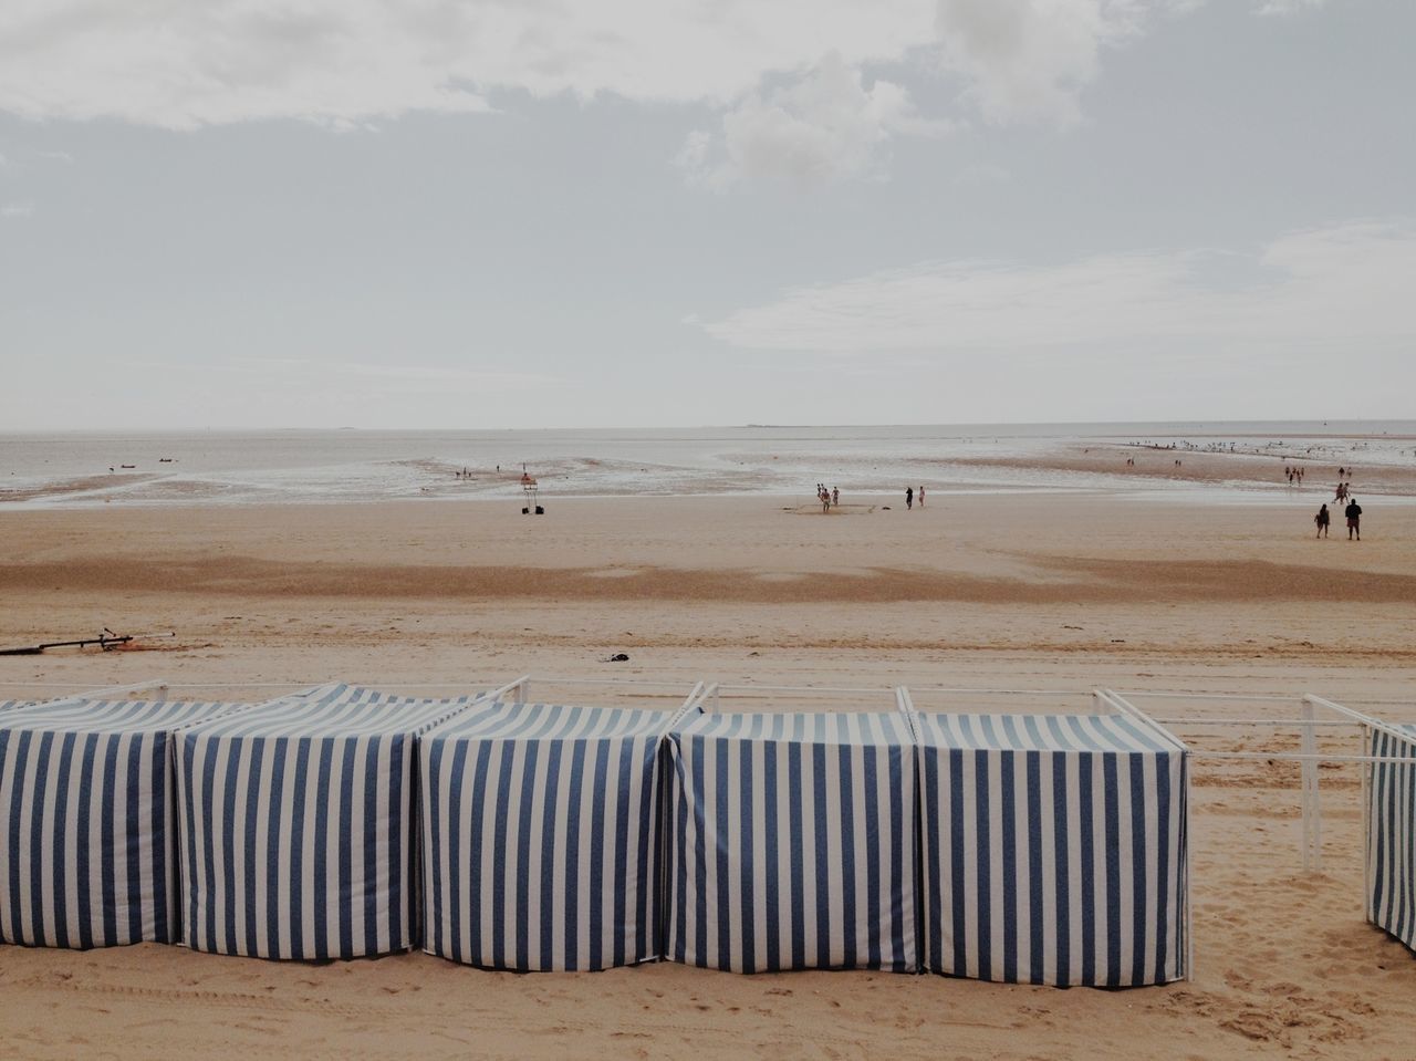
[[[428,953],[523,972],[657,958],[658,751],[671,718],[498,703],[428,734]]]

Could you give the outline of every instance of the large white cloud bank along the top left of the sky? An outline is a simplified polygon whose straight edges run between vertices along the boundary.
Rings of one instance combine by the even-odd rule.
[[[929,0],[7,0],[0,110],[193,129],[487,110],[487,93],[728,105],[838,50],[929,41]]]

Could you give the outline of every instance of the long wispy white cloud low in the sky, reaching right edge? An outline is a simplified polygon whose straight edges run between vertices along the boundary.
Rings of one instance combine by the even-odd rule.
[[[704,323],[755,350],[837,354],[1051,350],[1184,341],[1195,348],[1416,341],[1416,225],[1354,222],[1259,252],[1143,251],[1052,266],[926,262],[787,292]]]

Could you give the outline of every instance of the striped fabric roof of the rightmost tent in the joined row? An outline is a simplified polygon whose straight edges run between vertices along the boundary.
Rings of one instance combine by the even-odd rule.
[[[1039,752],[1174,752],[1164,737],[1129,715],[920,714],[926,748]]]

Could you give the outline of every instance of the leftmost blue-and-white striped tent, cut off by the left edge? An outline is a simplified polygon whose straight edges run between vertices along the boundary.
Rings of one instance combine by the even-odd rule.
[[[0,942],[174,942],[171,732],[242,707],[64,700],[6,713]]]

